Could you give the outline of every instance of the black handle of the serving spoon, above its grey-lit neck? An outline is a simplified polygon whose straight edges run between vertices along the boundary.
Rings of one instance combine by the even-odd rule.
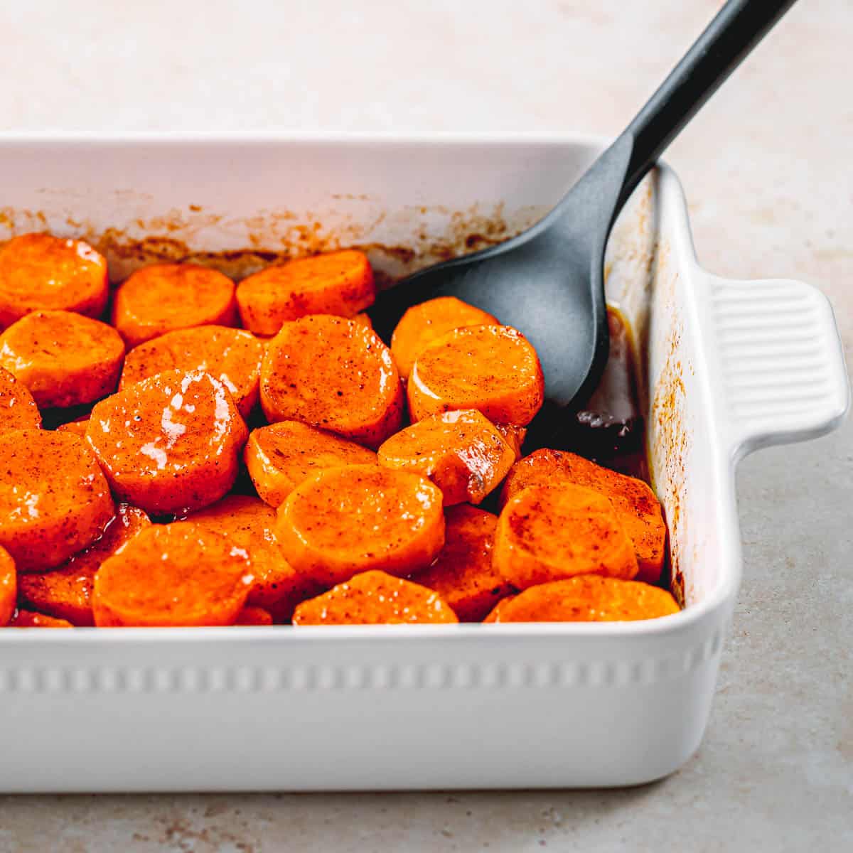
[[[640,183],[664,148],[714,94],[794,0],[728,0],[637,113],[623,136],[633,137],[621,201]]]

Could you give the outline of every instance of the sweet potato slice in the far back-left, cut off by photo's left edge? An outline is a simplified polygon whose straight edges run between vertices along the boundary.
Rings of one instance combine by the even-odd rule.
[[[82,240],[23,234],[0,247],[0,328],[31,311],[98,317],[107,306],[107,260]]]

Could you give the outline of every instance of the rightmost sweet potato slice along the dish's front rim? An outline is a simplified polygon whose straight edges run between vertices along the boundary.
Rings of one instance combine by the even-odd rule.
[[[678,612],[666,589],[641,581],[579,575],[525,589],[496,608],[494,622],[631,622]]]

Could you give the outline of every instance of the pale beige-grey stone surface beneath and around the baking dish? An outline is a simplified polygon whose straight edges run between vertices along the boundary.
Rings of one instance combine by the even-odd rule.
[[[612,134],[720,5],[9,0],[0,130]],[[798,3],[668,155],[705,266],[822,287],[849,362],[851,79],[850,0]],[[0,798],[0,851],[851,850],[853,425],[751,457],[739,496],[734,636],[705,741],[667,780],[615,792]]]

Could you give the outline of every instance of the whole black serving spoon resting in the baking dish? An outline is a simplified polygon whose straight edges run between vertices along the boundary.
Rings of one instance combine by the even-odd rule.
[[[728,0],[554,210],[511,240],[421,270],[383,293],[371,311],[379,334],[387,340],[410,305],[436,296],[464,299],[519,328],[545,374],[546,408],[533,444],[559,442],[567,408],[592,392],[607,359],[603,267],[614,219],[664,148],[793,2]]]

